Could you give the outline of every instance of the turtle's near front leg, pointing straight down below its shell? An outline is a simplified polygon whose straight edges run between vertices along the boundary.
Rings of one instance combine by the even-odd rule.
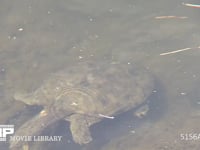
[[[88,123],[87,117],[81,114],[73,114],[70,118],[66,118],[70,121],[70,130],[74,142],[82,145],[92,141],[91,133],[89,130],[90,123]]]

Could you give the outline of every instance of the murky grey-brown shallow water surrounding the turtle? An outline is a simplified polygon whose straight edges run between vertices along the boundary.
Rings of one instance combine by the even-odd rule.
[[[116,122],[94,125],[94,141],[83,146],[73,143],[69,124],[61,121],[43,134],[62,135],[62,142],[33,143],[30,149],[198,149],[199,139],[181,140],[181,135],[200,131],[200,9],[182,2],[2,0],[0,124],[20,126],[31,118],[39,108],[14,101],[13,93],[32,91],[52,72],[78,61],[137,63],[154,74],[157,82],[147,116],[138,119],[123,114]],[[184,48],[191,49],[160,55]],[[0,144],[8,149],[8,144]]]

